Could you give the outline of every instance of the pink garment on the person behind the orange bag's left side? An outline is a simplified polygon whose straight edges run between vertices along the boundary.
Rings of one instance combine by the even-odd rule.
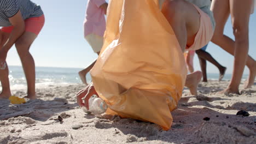
[[[89,34],[104,35],[106,29],[106,20],[104,11],[100,8],[105,0],[88,0],[84,19],[84,37]]]

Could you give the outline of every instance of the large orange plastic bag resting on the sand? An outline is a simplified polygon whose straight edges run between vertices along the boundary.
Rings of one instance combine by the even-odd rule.
[[[108,114],[141,119],[168,130],[187,69],[157,0],[110,0],[104,45],[92,82]]]

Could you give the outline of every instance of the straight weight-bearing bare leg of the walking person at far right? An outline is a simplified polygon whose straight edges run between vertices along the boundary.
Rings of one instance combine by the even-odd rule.
[[[230,0],[230,13],[232,17],[233,33],[235,35],[235,61],[231,82],[227,91],[238,91],[245,69],[249,50],[249,17],[251,14],[252,0]]]

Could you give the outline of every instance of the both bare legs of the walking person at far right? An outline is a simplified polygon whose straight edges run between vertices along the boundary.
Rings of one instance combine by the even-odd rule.
[[[238,86],[241,81],[244,64],[250,70],[247,87],[253,85],[256,75],[256,62],[248,56],[248,22],[252,1],[222,1],[213,0],[212,10],[216,20],[216,29],[212,38],[213,43],[235,56],[234,70],[231,82],[224,92],[239,93]],[[231,11],[232,25],[236,41],[223,35],[226,20]],[[243,47],[243,48],[242,48]],[[240,53],[241,52],[241,53]]]

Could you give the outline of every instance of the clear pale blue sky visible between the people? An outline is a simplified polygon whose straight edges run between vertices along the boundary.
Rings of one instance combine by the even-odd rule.
[[[97,55],[92,51],[83,36],[83,21],[86,0],[32,0],[41,5],[45,14],[45,25],[38,38],[31,46],[31,53],[36,66],[84,68]],[[251,15],[249,31],[249,55],[256,59],[256,14]],[[231,38],[230,19],[225,27],[225,34]],[[217,45],[210,43],[207,51],[232,73],[234,57]],[[9,65],[21,65],[15,47],[8,53]],[[195,69],[200,70],[197,56],[194,59]],[[208,73],[218,73],[214,65],[207,63]],[[246,68],[246,74],[248,69]]]

